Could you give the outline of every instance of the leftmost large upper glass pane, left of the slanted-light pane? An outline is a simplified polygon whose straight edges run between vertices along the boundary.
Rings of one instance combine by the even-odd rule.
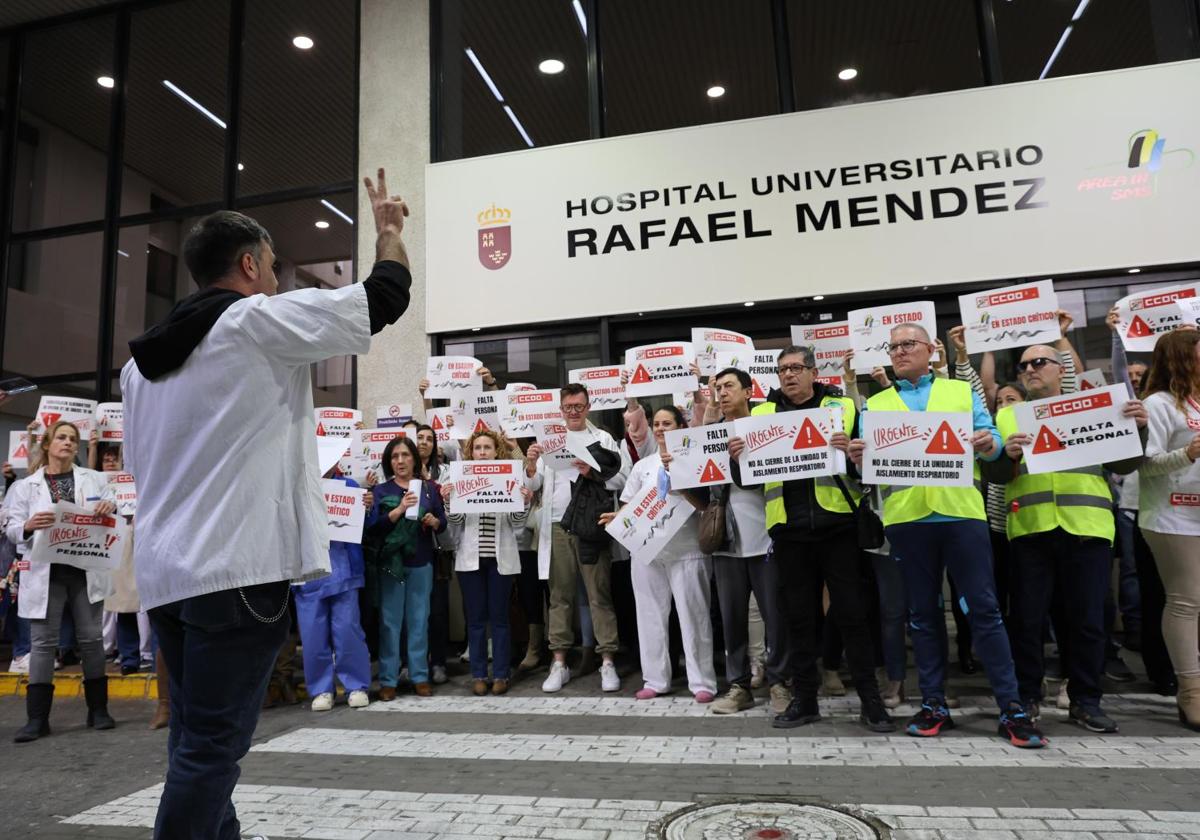
[[[104,215],[114,18],[38,29],[25,42],[13,229]]]

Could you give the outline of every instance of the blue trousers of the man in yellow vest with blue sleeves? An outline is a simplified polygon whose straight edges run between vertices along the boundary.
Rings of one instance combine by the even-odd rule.
[[[949,570],[966,600],[974,650],[996,695],[1007,709],[1020,702],[1013,652],[996,602],[988,523],[982,520],[906,522],[888,526],[892,556],[900,564],[908,593],[908,634],[917,659],[922,697],[946,697],[946,612],[942,575]]]

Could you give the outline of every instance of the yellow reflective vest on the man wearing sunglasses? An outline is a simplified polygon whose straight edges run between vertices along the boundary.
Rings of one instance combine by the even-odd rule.
[[[1019,431],[1012,406],[996,414],[996,428],[1002,440]],[[1099,464],[1030,475],[1022,457],[1016,469],[1016,478],[1004,485],[1008,539],[1062,528],[1112,542],[1112,492]]]

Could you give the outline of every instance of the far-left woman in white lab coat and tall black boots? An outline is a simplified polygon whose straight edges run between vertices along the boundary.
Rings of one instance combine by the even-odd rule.
[[[14,484],[8,492],[5,534],[17,546],[18,563],[28,563],[35,534],[54,524],[58,503],[90,508],[106,516],[116,510],[104,476],[76,466],[78,452],[78,427],[71,422],[55,422],[42,436],[40,462],[44,466]],[[17,608],[22,617],[31,619],[32,652],[25,694],[29,722],[17,732],[13,740],[18,744],[50,733],[54,652],[59,646],[59,625],[65,608],[70,608],[74,617],[76,638],[83,654],[88,726],[97,730],[115,726],[108,714],[108,677],[104,676],[104,644],[101,640],[104,598],[110,590],[112,576],[103,571],[84,571],[62,563],[31,563],[23,569]]]

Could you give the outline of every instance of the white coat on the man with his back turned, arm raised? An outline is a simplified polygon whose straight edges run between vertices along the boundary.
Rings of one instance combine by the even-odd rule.
[[[329,574],[308,365],[370,348],[355,283],[239,300],[155,382],[125,366],[143,610]]]

